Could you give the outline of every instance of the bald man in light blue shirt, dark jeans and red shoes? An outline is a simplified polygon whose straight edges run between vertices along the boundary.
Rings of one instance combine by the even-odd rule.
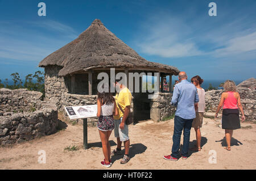
[[[180,137],[183,131],[183,148],[181,157],[188,158],[188,146],[192,121],[196,117],[195,104],[199,102],[196,86],[187,81],[185,71],[179,73],[179,81],[174,89],[171,104],[177,106],[174,117],[174,135],[172,136],[172,153],[164,159],[177,161],[179,158]]]

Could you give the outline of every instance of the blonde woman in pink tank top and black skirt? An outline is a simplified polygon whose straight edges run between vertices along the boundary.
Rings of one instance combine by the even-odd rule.
[[[227,147],[225,147],[225,149],[230,150],[230,142],[233,135],[233,130],[241,128],[239,120],[239,110],[242,113],[242,122],[245,121],[245,115],[243,113],[240,95],[236,91],[236,84],[234,83],[234,81],[226,81],[224,83],[224,90],[225,92],[221,94],[221,100],[218,104],[215,117],[218,116],[218,112],[223,106],[222,129],[225,129],[227,144]]]

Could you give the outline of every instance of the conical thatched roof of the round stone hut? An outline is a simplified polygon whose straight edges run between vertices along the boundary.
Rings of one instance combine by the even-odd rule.
[[[93,68],[153,68],[177,75],[173,66],[150,62],[139,56],[122,40],[110,32],[99,19],[64,47],[49,54],[39,63],[40,67],[58,65],[63,68],[60,76]]]

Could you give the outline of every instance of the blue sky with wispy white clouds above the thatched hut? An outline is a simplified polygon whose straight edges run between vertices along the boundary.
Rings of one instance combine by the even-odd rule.
[[[46,16],[38,16],[38,3]],[[210,2],[217,16],[209,16]],[[256,1],[1,1],[0,79],[35,73],[44,57],[94,19],[149,61],[176,66],[189,79],[256,77]]]

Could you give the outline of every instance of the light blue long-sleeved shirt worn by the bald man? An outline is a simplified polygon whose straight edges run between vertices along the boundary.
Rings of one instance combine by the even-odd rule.
[[[171,104],[177,106],[175,116],[183,119],[194,119],[196,117],[195,103],[199,102],[196,86],[187,80],[177,83],[172,95]]]

